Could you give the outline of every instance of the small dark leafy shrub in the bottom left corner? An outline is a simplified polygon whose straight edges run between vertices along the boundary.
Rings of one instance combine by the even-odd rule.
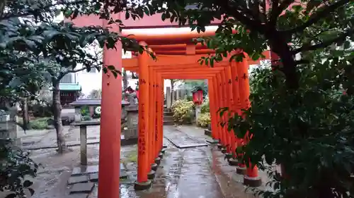
[[[29,153],[13,147],[11,140],[0,140],[0,161],[0,191],[12,192],[6,198],[24,198],[25,189],[33,195],[33,182],[24,178],[34,178],[39,164],[29,158]]]

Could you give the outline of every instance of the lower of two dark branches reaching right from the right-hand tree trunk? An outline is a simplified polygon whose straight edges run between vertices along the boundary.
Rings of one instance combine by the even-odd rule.
[[[304,45],[298,49],[292,50],[292,54],[297,54],[302,51],[312,51],[312,50],[316,50],[316,49],[326,48],[326,47],[329,47],[333,43],[345,41],[346,37],[348,37],[349,35],[353,35],[353,34],[354,34],[354,29],[351,29],[346,32],[343,32],[343,34],[339,35],[338,37],[336,37],[334,39],[328,39],[325,42],[321,42],[319,44]]]

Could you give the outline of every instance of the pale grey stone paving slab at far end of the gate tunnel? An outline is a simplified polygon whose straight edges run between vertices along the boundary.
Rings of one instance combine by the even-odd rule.
[[[181,130],[176,129],[173,126],[166,126],[164,128],[164,137],[172,142],[172,144],[174,144],[178,149],[207,146],[205,141],[190,137],[185,132],[181,132]]]

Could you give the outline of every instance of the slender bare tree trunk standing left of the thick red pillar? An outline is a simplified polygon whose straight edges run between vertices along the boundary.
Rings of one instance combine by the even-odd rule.
[[[53,115],[54,126],[57,132],[57,146],[59,154],[70,151],[65,142],[62,125],[62,104],[60,104],[59,80],[53,80]]]

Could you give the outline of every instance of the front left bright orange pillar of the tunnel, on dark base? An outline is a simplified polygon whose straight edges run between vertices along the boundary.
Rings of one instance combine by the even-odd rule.
[[[144,42],[139,43],[146,46]],[[139,121],[138,121],[138,156],[136,190],[144,190],[151,186],[147,179],[150,164],[147,144],[149,144],[149,54],[143,52],[138,55],[139,66]],[[119,191],[119,186],[117,187]],[[119,196],[118,196],[119,197]],[[106,197],[103,197],[106,198]]]

